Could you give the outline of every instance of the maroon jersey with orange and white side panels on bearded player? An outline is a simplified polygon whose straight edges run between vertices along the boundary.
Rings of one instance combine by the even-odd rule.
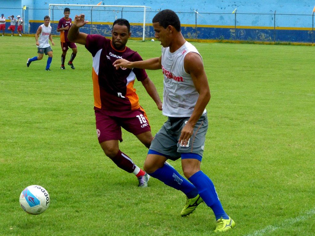
[[[125,47],[117,51],[111,40],[101,35],[88,35],[85,48],[93,56],[93,91],[94,105],[105,110],[127,111],[140,108],[139,97],[133,87],[135,79],[143,81],[147,78],[143,69],[128,69],[113,66],[123,58],[128,61],[142,61],[139,53]]]

